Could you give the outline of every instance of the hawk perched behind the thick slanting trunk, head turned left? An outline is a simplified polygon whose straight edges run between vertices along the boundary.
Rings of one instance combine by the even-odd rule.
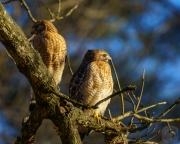
[[[44,64],[52,74],[56,84],[61,81],[66,60],[66,42],[58,34],[55,26],[47,20],[39,20],[32,27],[34,48],[40,53]],[[31,94],[30,112],[34,109],[35,96]]]

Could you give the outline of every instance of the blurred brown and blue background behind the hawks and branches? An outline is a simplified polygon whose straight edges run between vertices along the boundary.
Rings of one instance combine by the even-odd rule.
[[[33,16],[50,19],[39,1],[26,0]],[[57,0],[42,0],[52,11],[57,12]],[[62,0],[62,16],[76,5],[76,0]],[[23,6],[15,1],[4,5],[8,13],[30,37],[33,23]],[[147,106],[167,101],[150,111],[155,116],[179,97],[180,85],[180,2],[175,0],[79,0],[78,8],[67,18],[54,22],[59,33],[67,41],[73,71],[80,65],[87,49],[101,48],[110,53],[115,63],[122,87],[136,85],[139,96],[142,70],[146,70],[142,103]],[[71,74],[66,66],[60,84],[68,95]],[[117,88],[116,82],[115,87]],[[7,123],[13,134],[7,133],[0,124],[0,143],[14,143],[20,133],[21,121],[27,116],[30,100],[30,85],[18,72],[16,65],[0,45],[0,123]],[[112,115],[120,114],[120,99],[113,98],[108,108]],[[126,102],[125,110],[131,106]],[[178,110],[176,108],[176,110]],[[168,117],[178,117],[173,110]],[[2,121],[6,119],[6,121]],[[37,143],[59,143],[52,123],[44,121],[37,131]],[[175,125],[175,124],[174,124]],[[176,124],[178,126],[179,124]],[[161,129],[164,124],[158,127]],[[139,133],[132,137],[137,137]],[[97,141],[98,136],[98,141]],[[91,139],[91,140],[90,140]],[[162,137],[155,138],[159,143]],[[102,135],[95,133],[85,143],[103,142]]]

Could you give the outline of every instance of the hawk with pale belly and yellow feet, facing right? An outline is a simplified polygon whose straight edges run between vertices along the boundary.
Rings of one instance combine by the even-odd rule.
[[[108,63],[111,60],[104,50],[88,50],[78,70],[72,76],[69,96],[78,102],[95,105],[98,101],[111,95],[113,79]],[[97,109],[84,110],[87,115],[104,115],[110,99],[101,103]],[[87,128],[79,127],[81,139],[89,133]]]

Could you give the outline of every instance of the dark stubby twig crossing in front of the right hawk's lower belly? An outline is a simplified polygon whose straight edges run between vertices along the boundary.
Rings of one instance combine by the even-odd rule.
[[[123,93],[125,91],[132,91],[132,90],[136,90],[136,86],[128,86],[128,87],[124,88],[121,91],[117,91],[117,92],[113,93],[112,95],[110,95],[110,96],[100,100],[99,102],[97,102],[94,106],[92,106],[92,108],[96,109],[96,108],[98,108],[98,105],[100,105],[101,103],[107,101],[108,99],[110,99],[110,98],[112,98],[112,97],[114,97],[114,96],[116,96],[116,95],[118,95],[120,93]]]

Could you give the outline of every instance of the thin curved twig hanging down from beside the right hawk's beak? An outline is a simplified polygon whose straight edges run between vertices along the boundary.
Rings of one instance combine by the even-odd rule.
[[[117,75],[117,72],[116,72],[116,69],[115,69],[115,66],[114,66],[112,60],[111,60],[111,65],[113,67],[113,70],[114,70],[114,73],[115,73],[115,76],[116,76],[119,91],[121,91],[120,81],[119,81],[119,78],[118,78],[118,75]],[[123,97],[122,93],[120,94],[120,99],[121,99],[121,115],[123,115],[124,114],[124,97]]]

